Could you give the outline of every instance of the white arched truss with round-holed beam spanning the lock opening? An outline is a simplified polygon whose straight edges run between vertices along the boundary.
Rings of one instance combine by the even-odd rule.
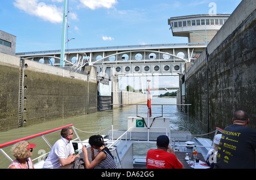
[[[127,54],[127,53],[141,53],[143,52],[144,55],[136,59],[132,59],[131,55],[128,59],[121,59],[118,58],[119,54]],[[158,58],[154,55],[152,57],[146,58],[146,52],[148,53],[155,53],[158,54]],[[167,55],[168,58],[161,58],[160,54]],[[149,54],[150,55],[150,54]],[[111,57],[115,57],[114,61],[110,61]],[[171,59],[171,57],[174,57]],[[118,60],[118,59],[121,59]],[[97,61],[89,62],[89,65],[98,66],[100,68],[99,76],[106,75],[106,69],[111,68],[112,75],[119,75],[119,76],[147,76],[147,75],[177,75],[182,74],[184,71],[184,64],[188,62],[187,59],[182,57],[178,57],[177,55],[166,53],[166,52],[159,52],[156,50],[129,50],[126,52],[114,53],[108,55],[106,57],[100,58]]]

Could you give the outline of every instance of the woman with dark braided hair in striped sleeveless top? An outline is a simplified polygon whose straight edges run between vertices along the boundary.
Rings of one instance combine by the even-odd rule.
[[[88,152],[86,147],[82,147],[84,153],[85,168],[92,169],[99,165],[102,169],[116,169],[114,157],[109,149],[105,147],[104,140],[101,135],[93,135],[89,138],[90,151],[92,152],[92,162],[88,160]],[[94,156],[94,149],[98,150],[98,154]]]

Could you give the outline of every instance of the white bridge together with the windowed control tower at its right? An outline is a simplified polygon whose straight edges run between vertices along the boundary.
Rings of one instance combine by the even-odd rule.
[[[203,14],[168,19],[173,36],[188,37],[188,43],[184,44],[66,49],[62,60],[61,50],[16,53],[16,55],[51,66],[69,68],[71,71],[82,72],[85,66],[96,66],[100,76],[105,76],[106,73],[109,76],[174,76],[183,73],[185,63],[195,61],[199,57],[229,16]],[[60,63],[63,61],[64,67]]]

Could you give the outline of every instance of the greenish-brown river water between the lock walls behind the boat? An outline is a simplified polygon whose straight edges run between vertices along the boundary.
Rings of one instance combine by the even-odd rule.
[[[146,102],[144,105],[138,106],[138,115],[147,117]],[[172,104],[163,106],[163,116],[170,117],[171,130],[189,130],[192,134],[204,134],[199,126],[187,114],[181,112],[176,104],[176,98],[153,98],[151,100],[152,117],[162,115],[162,106],[154,104]],[[38,134],[40,132],[52,130],[53,128],[73,124],[79,134],[81,140],[88,139],[94,134],[107,134],[111,130],[113,123],[114,129],[127,130],[127,117],[136,116],[137,106],[123,106],[122,108],[114,108],[114,110],[105,110],[103,112],[96,112],[92,114],[79,115],[76,117],[55,119],[55,121],[40,123],[39,125],[32,125],[27,127],[16,128],[5,132],[0,132],[0,144],[10,142],[12,140],[24,138],[30,135]],[[113,117],[113,118],[112,118]],[[53,134],[46,135],[47,140],[52,145],[60,138],[60,131]],[[76,136],[74,135],[74,138]],[[47,144],[43,138],[35,138],[28,140],[28,142],[35,143],[36,147],[33,151],[32,159],[40,156],[43,152],[48,152]],[[11,157],[11,147],[3,148],[3,150]],[[36,161],[37,162],[37,161]],[[35,163],[35,162],[34,162]],[[0,168],[7,168],[10,161],[7,160],[2,153],[0,153]]]

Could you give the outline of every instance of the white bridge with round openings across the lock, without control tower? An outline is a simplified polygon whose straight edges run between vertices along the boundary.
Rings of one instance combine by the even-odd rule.
[[[82,71],[85,66],[96,66],[102,75],[108,68],[111,75],[177,75],[182,74],[184,64],[198,58],[204,48],[204,43],[186,43],[68,49],[64,68]],[[16,55],[50,66],[60,66],[60,50]]]

